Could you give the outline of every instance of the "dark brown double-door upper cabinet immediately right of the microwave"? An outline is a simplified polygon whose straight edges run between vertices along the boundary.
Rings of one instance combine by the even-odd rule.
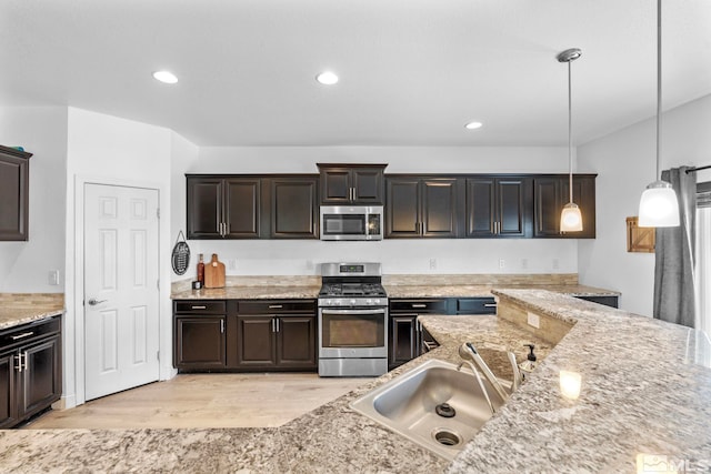
[[[457,178],[390,175],[385,238],[457,238],[463,189]]]

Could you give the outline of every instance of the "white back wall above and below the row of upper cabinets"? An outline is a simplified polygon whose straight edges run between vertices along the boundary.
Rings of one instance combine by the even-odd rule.
[[[316,163],[389,163],[388,173],[519,173],[568,170],[567,148],[273,147],[201,148],[191,173],[318,173]],[[218,253],[228,274],[318,274],[318,263],[371,260],[395,273],[575,273],[574,240],[460,239],[191,241],[194,254]],[[435,260],[435,269],[430,260]],[[499,268],[499,260],[504,268]],[[525,260],[525,262],[523,262]],[[188,275],[194,276],[192,268]]]

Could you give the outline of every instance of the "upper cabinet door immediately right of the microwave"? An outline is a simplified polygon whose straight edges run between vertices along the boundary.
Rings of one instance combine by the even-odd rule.
[[[420,180],[389,178],[387,180],[385,236],[420,235]]]

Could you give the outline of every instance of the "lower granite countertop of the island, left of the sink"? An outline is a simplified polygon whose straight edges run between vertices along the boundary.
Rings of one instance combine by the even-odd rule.
[[[276,428],[0,431],[0,466],[12,472],[443,472],[449,461],[353,412],[349,404],[429,359],[458,361],[458,345],[477,344],[498,375],[497,351],[550,345],[495,316],[423,316],[440,347]],[[503,361],[503,362],[502,362]]]

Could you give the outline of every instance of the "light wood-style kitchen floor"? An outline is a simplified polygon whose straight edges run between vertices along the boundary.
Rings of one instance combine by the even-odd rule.
[[[273,427],[370,379],[317,374],[181,374],[63,411],[24,428]]]

